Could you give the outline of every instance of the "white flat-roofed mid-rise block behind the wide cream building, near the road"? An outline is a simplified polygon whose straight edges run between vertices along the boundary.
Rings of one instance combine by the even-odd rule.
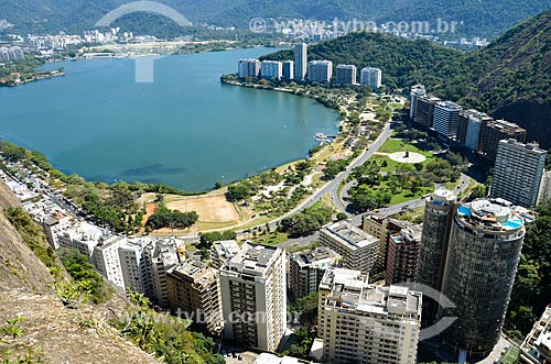
[[[347,221],[338,221],[320,231],[320,242],[343,256],[343,267],[374,274],[380,269],[380,240]]]

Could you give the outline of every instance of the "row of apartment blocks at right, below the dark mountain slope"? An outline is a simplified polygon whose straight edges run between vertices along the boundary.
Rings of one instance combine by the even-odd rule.
[[[526,208],[551,197],[551,175],[545,172],[548,153],[537,143],[526,143],[521,126],[428,96],[423,85],[411,88],[410,103],[414,126],[495,163],[490,197]]]

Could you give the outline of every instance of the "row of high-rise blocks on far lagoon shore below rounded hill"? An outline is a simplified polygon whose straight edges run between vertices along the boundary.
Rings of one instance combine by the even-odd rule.
[[[331,60],[307,60],[307,45],[300,43],[294,48],[294,60],[240,59],[238,77],[309,82],[333,82],[335,85],[361,85],[378,90],[382,82],[382,71],[366,67],[358,71],[355,65],[337,65]]]

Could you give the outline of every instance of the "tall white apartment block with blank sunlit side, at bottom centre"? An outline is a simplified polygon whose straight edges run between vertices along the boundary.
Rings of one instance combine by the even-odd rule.
[[[225,338],[276,352],[287,328],[285,253],[245,243],[219,274]]]

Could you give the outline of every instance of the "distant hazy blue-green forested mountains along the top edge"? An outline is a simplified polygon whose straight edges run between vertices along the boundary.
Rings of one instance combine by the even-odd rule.
[[[91,29],[97,20],[130,0],[18,0],[0,1],[0,19],[7,19],[20,33],[58,31],[79,32]],[[162,0],[194,23],[235,25],[247,29],[253,18],[303,18],[317,20],[352,19],[386,21],[429,21],[437,19],[460,23],[457,35],[489,36],[503,33],[515,23],[551,8],[551,0]],[[153,21],[129,15],[122,20],[126,30],[148,33]],[[159,22],[160,16],[155,16]],[[168,26],[173,35],[181,31]],[[147,25],[147,26],[145,26]],[[129,27],[129,29],[127,29]]]

